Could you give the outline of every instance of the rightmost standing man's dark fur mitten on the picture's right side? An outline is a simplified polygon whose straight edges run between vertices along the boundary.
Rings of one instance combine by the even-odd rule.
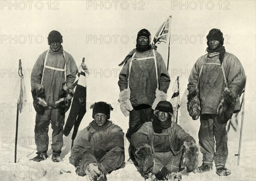
[[[227,123],[234,113],[235,105],[236,97],[228,88],[225,88],[217,108],[217,120],[219,123]]]

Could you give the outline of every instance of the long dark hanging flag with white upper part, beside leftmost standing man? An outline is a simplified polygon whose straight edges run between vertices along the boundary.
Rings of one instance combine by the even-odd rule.
[[[70,113],[64,127],[64,135],[68,136],[72,127],[74,126],[72,140],[76,138],[76,134],[81,123],[81,120],[86,113],[86,65],[84,65],[84,58],[82,64],[79,66],[79,72],[76,75],[76,80],[73,86],[76,88],[73,102],[70,108]]]

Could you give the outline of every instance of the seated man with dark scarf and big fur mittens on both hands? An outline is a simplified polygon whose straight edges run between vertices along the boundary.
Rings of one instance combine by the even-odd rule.
[[[180,180],[182,173],[198,166],[199,146],[192,136],[172,122],[172,104],[160,101],[152,122],[145,122],[131,136],[132,151],[145,178],[151,181]]]

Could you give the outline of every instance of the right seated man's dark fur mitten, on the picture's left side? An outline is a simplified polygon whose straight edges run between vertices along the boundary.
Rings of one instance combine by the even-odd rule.
[[[135,159],[138,163],[140,170],[143,173],[149,173],[154,165],[153,150],[148,144],[137,148],[135,151]]]

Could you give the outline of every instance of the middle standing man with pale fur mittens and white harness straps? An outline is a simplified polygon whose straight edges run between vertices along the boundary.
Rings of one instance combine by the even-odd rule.
[[[119,101],[123,114],[129,115],[129,129],[126,133],[129,142],[142,124],[150,122],[154,117],[154,108],[158,102],[166,100],[170,85],[170,76],[163,58],[151,47],[150,42],[150,32],[140,30],[136,49],[120,64],[125,65],[119,74]],[[129,156],[134,161],[131,147]]]

